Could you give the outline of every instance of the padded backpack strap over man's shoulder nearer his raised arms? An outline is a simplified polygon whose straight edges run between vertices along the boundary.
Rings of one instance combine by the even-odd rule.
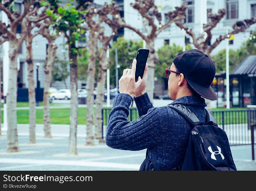
[[[193,127],[201,123],[192,110],[181,104],[169,105],[168,107],[177,111],[177,113],[184,117]]]

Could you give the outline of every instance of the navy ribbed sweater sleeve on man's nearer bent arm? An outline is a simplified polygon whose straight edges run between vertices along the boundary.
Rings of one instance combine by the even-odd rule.
[[[127,117],[131,99],[125,93],[119,93],[114,99],[106,132],[106,144],[111,148],[138,151],[155,145],[160,129],[158,108],[151,108],[147,115],[130,122]]]

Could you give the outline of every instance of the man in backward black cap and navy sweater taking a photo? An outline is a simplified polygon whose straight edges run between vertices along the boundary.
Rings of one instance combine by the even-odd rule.
[[[147,64],[143,78],[135,82],[136,60],[125,69],[119,80],[120,93],[115,97],[107,122],[106,144],[114,149],[138,151],[147,149],[141,170],[172,170],[183,162],[191,125],[167,106],[153,107],[145,90]],[[164,72],[164,71],[163,71]],[[170,104],[191,109],[200,121],[206,121],[205,99],[218,99],[211,88],[216,73],[214,61],[197,49],[180,52],[170,69],[168,79]],[[202,98],[204,97],[204,98]],[[128,121],[129,106],[134,99],[140,119]],[[170,105],[168,104],[168,105]]]

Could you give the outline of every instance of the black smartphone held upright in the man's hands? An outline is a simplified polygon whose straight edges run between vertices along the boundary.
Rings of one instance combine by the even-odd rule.
[[[147,63],[147,57],[149,54],[149,49],[138,49],[136,55],[136,71],[135,71],[135,80],[138,80],[138,77],[141,76],[141,79],[144,74],[144,70]]]

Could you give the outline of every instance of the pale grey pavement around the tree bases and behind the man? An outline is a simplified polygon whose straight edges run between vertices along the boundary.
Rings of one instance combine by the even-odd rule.
[[[0,170],[138,170],[146,150],[123,151],[105,143],[86,146],[86,125],[78,125],[77,156],[68,155],[69,125],[51,125],[53,138],[43,137],[43,125],[36,125],[36,144],[29,144],[29,125],[18,124],[20,152],[7,153],[6,131],[0,137]],[[256,170],[251,145],[231,146],[238,170]],[[256,150],[255,150],[256,153]]]

